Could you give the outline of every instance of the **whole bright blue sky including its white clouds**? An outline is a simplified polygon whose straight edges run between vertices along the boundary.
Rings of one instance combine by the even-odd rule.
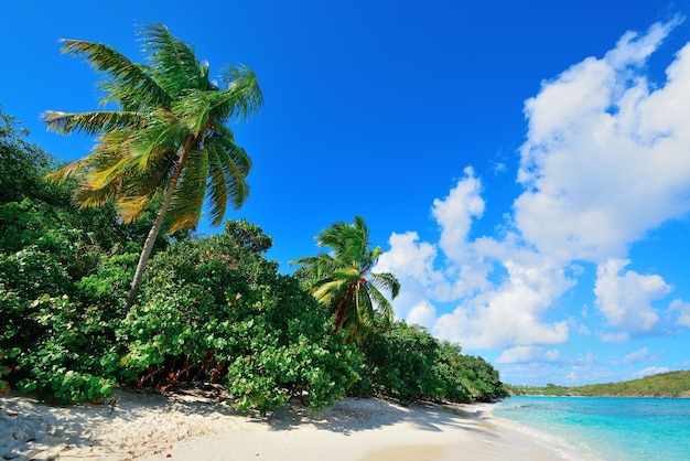
[[[362,215],[399,318],[508,383],[629,379],[690,368],[688,15],[684,0],[12,2],[0,104],[83,157],[90,139],[39,119],[98,100],[57,40],[141,61],[136,24],[163,22],[212,72],[258,75],[266,106],[234,126],[251,194],[227,217],[273,236],[281,270]]]

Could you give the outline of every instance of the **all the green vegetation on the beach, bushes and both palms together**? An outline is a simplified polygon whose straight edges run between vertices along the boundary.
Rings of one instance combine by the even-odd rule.
[[[400,286],[371,272],[381,249],[362,217],[322,232],[330,253],[298,259],[294,275],[278,271],[266,257],[272,238],[245,219],[211,236],[181,232],[196,225],[204,197],[218,222],[226,197],[246,199],[248,158],[219,124],[255,107],[237,92],[257,88],[241,72],[233,82],[246,77],[248,87],[215,88],[190,47],[161,25],[144,32],[159,65],[66,42],[110,74],[107,100],[121,105],[47,116],[64,132],[97,133],[90,157],[58,164],[0,106],[0,393],[104,403],[116,386],[208,383],[235,408],[261,414],[291,398],[319,409],[346,395],[402,404],[504,396],[490,364],[395,321],[381,290],[392,299]],[[184,69],[160,73],[171,50]],[[197,86],[173,96],[176,72]],[[192,183],[203,193],[188,195]],[[143,255],[147,277],[130,307]]]

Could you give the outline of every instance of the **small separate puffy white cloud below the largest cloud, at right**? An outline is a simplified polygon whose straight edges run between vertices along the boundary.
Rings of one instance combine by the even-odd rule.
[[[596,305],[608,324],[628,334],[649,332],[659,322],[651,301],[664,298],[671,291],[657,275],[643,276],[633,270],[619,272],[629,261],[610,259],[596,269]]]

